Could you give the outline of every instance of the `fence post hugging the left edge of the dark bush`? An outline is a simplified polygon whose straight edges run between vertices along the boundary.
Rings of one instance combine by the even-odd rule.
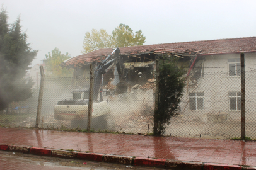
[[[157,132],[158,120],[156,115],[158,114],[158,99],[159,99],[159,62],[156,60],[156,91],[154,93],[154,134]]]

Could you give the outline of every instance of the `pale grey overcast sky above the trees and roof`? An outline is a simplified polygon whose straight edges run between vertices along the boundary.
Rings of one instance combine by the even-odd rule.
[[[146,43],[172,43],[256,36],[256,1],[64,1],[1,0],[8,22],[21,17],[28,43],[39,50],[32,65],[55,47],[81,55],[92,28],[112,33],[120,23],[142,30]]]

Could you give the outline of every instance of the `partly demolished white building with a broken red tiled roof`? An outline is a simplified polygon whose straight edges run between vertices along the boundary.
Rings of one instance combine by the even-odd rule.
[[[100,49],[73,57],[62,63],[62,67],[73,67],[73,77],[83,76],[89,79],[89,64],[92,63],[95,67],[112,50],[112,48]],[[145,84],[150,83],[148,79],[153,79],[151,72],[158,57],[162,55],[178,57],[178,66],[187,69],[186,88],[180,104],[181,111],[193,112],[201,120],[204,119],[203,115],[209,114],[225,113],[233,118],[239,114],[237,111],[241,109],[238,94],[241,86],[238,77],[240,77],[241,52],[245,52],[245,65],[252,65],[245,71],[256,69],[256,37],[121,47],[120,52],[127,71],[127,81],[131,82],[131,86],[139,84],[141,88],[145,88]],[[140,77],[139,72],[146,74]],[[220,74],[213,74],[214,72],[223,72],[223,74],[219,76]],[[113,83],[109,84],[110,78]],[[112,68],[103,79],[103,86],[115,85],[114,79],[115,68]],[[254,90],[254,86],[250,88]],[[236,95],[232,96],[233,94]]]

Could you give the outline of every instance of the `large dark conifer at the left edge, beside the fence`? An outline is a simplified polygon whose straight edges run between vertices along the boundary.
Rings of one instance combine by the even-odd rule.
[[[21,32],[20,16],[8,25],[3,6],[0,11],[0,110],[13,101],[25,101],[32,96],[32,80],[25,79],[29,65],[37,55],[26,43],[28,36]]]

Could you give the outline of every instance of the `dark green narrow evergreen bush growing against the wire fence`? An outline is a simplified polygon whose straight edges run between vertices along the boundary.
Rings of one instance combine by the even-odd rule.
[[[178,67],[176,58],[163,58],[159,61],[159,98],[158,110],[155,111],[154,135],[163,135],[166,125],[175,116],[181,97],[185,79],[184,71]]]

